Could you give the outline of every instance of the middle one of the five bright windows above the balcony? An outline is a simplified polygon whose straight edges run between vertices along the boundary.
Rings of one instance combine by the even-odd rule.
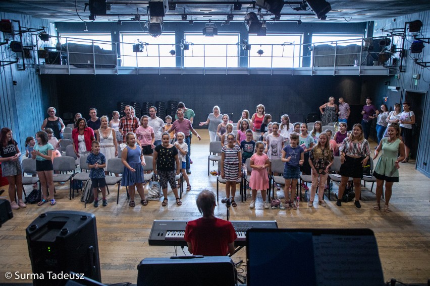
[[[201,34],[185,33],[190,44],[184,50],[184,66],[237,67],[239,66],[239,33],[218,34],[206,37]]]

